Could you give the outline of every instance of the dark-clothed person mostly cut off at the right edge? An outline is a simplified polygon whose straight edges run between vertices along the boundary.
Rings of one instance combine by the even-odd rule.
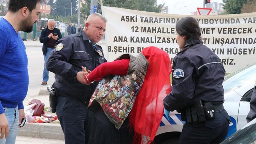
[[[248,115],[246,117],[247,123],[249,123],[254,118],[256,118],[256,81],[255,81],[255,85],[253,88],[252,97],[250,100],[250,107],[251,107],[250,112],[248,113]]]

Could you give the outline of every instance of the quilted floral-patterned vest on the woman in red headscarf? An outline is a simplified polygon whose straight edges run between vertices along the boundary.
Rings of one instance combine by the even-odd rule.
[[[91,97],[88,109],[96,110],[98,102],[106,116],[117,129],[129,115],[147,72],[148,61],[142,53],[136,57],[130,54],[118,59],[130,58],[126,75],[107,75],[102,78]]]

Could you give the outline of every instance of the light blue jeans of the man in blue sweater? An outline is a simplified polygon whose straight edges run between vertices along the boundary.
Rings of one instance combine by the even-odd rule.
[[[4,107],[4,114],[8,120],[9,124],[9,135],[7,139],[0,139],[0,144],[15,144],[16,136],[18,134],[18,125],[19,125],[19,111],[18,107],[16,108],[7,108]]]

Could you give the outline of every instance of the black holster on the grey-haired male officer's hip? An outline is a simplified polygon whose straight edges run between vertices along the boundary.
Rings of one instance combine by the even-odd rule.
[[[55,88],[54,88],[54,85],[51,86],[47,86],[47,90],[49,92],[49,102],[50,102],[50,107],[49,107],[49,110],[52,112],[52,113],[55,113],[56,112],[56,91],[55,91]]]

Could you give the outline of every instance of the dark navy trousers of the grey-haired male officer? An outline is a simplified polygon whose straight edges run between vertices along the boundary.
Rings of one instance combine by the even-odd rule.
[[[88,103],[73,97],[57,97],[56,114],[65,136],[65,144],[87,144],[93,112]]]

